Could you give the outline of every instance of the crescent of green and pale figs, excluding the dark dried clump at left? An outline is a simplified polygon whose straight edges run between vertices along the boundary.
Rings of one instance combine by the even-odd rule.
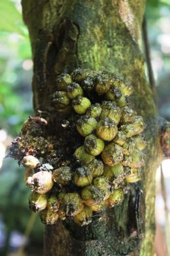
[[[40,212],[42,223],[73,218],[80,226],[89,224],[93,212],[121,203],[127,185],[141,179],[145,125],[129,107],[132,92],[123,79],[108,72],[78,68],[71,75],[58,75],[52,106],[63,116],[75,113],[84,143],[73,155],[75,169],[61,166],[30,175],[40,160],[30,154],[22,159],[28,173],[25,182],[32,190],[29,208]],[[54,184],[61,188],[58,194],[52,192]]]

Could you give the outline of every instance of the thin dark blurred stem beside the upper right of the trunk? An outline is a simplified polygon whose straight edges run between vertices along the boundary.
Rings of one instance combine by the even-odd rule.
[[[147,23],[146,23],[146,15],[144,15],[143,18],[143,41],[144,41],[144,51],[145,51],[145,57],[146,57],[146,65],[148,68],[148,79],[150,83],[150,88],[152,90],[153,96],[154,96],[154,102],[156,102],[156,85],[154,81],[154,74],[152,70],[152,64],[150,61],[150,45],[148,42],[148,33],[147,33]]]

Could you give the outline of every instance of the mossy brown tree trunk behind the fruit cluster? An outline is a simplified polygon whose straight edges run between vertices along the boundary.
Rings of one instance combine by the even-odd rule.
[[[144,75],[145,1],[22,0],[22,7],[33,51],[35,111],[49,110],[46,95],[54,89],[57,74],[76,67],[107,70],[133,85],[131,100],[146,122],[148,141],[143,179],[124,202],[97,214],[88,226],[61,221],[46,226],[44,255],[154,255],[155,173],[163,159],[165,121],[157,116]]]

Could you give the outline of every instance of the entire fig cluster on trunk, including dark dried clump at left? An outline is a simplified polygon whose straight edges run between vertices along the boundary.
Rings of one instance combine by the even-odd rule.
[[[145,125],[128,107],[132,87],[115,74],[78,68],[58,75],[56,85],[46,99],[49,113],[28,119],[9,155],[26,168],[25,182],[33,190],[29,207],[41,211],[42,223],[55,224],[59,217],[83,226],[92,211],[122,202],[130,183],[141,179]],[[59,134],[48,135],[55,113]]]

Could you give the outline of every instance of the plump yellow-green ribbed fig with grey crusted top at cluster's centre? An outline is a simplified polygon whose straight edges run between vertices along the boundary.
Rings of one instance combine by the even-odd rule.
[[[110,141],[116,137],[118,127],[112,119],[105,117],[97,123],[96,133],[101,139]]]

